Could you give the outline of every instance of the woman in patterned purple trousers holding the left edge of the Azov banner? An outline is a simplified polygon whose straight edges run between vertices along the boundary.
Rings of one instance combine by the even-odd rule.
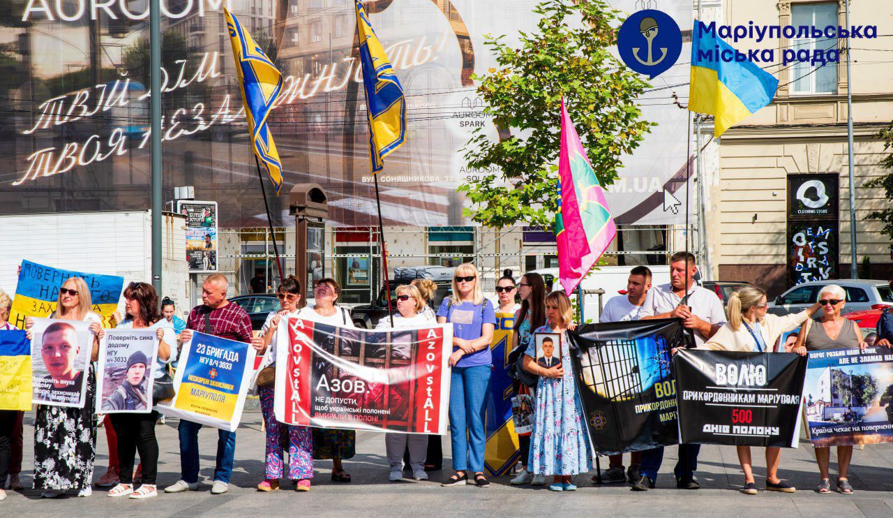
[[[280,488],[284,474],[282,457],[288,445],[288,478],[295,480],[296,491],[309,491],[313,479],[313,430],[306,426],[288,426],[276,420],[273,401],[276,396],[276,330],[283,317],[295,317],[301,301],[301,284],[294,275],[289,275],[276,291],[280,299],[279,312],[271,312],[263,323],[260,339],[251,342],[258,355],[263,355],[260,367],[251,383],[251,393],[260,396],[263,424],[266,427],[266,447],[264,456],[264,477],[257,484],[258,491],[273,491]]]

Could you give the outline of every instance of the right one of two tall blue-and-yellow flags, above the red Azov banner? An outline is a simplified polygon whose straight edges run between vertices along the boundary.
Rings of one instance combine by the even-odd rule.
[[[385,168],[384,157],[406,139],[406,100],[385,49],[375,36],[363,2],[356,3],[356,28],[360,34],[360,62],[371,137],[372,172]]]

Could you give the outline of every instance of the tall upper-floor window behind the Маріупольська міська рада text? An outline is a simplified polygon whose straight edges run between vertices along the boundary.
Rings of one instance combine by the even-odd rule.
[[[838,25],[838,3],[833,4],[794,4],[790,8],[791,25],[794,27],[808,26],[824,29],[829,25]],[[791,40],[791,48],[809,50],[813,54],[816,50],[828,51],[837,48],[837,38],[794,38]],[[837,93],[837,63],[824,63],[813,65],[807,62],[796,62],[791,71],[794,79],[791,92],[795,94],[836,94]]]

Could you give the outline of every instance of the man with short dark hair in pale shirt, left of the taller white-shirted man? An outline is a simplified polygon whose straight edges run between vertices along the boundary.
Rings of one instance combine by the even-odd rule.
[[[630,322],[641,318],[642,307],[648,290],[651,289],[651,270],[647,266],[636,266],[630,270],[630,277],[626,280],[626,295],[611,297],[605,304],[598,322]],[[610,464],[602,473],[602,482],[606,484],[620,483],[630,480],[635,482],[640,478],[639,464],[642,462],[642,452],[630,454],[630,471],[623,471],[623,455],[611,455],[608,457]],[[595,480],[595,477],[593,477]]]

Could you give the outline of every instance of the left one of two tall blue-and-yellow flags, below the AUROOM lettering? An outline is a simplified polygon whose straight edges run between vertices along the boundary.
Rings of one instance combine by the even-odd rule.
[[[226,26],[230,31],[236,73],[242,85],[242,105],[248,120],[251,143],[261,167],[267,171],[276,195],[282,188],[282,162],[273,135],[267,126],[267,116],[282,90],[282,73],[270,61],[263,49],[255,43],[248,31],[225,7]]]

